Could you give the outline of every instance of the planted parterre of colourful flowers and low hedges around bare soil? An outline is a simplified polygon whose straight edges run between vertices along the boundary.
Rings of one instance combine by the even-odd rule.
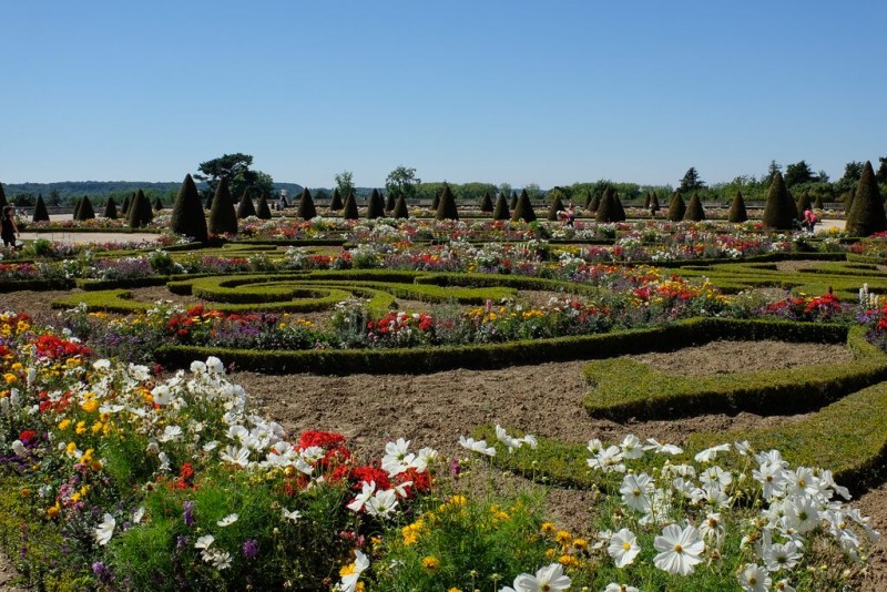
[[[248,217],[206,244],[164,233],[3,254],[0,289],[53,290],[57,309],[0,312],[0,542],[23,585],[863,585],[878,533],[852,498],[881,482],[887,449],[884,236],[712,216],[565,227],[324,214]],[[141,299],[149,287],[169,298]],[[723,338],[840,344],[853,359],[687,380],[622,357]],[[335,431],[289,432],[237,385],[241,369],[565,359],[588,360],[577,380],[592,417],[807,415],[680,446],[629,428],[570,442],[481,425],[370,452]],[[506,473],[521,486],[498,486]],[[581,529],[550,520],[552,487],[594,500]]]

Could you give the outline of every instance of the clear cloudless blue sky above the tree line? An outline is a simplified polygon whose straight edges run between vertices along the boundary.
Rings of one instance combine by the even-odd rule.
[[[887,155],[887,2],[2,0],[0,181],[833,180]]]

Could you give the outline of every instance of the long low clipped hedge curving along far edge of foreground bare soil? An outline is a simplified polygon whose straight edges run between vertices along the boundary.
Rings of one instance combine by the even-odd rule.
[[[696,318],[605,334],[459,347],[259,351],[164,346],[154,356],[157,361],[174,367],[187,367],[195,359],[217,356],[225,364],[234,363],[245,370],[343,376],[357,372],[425,374],[455,368],[489,369],[544,361],[609,358],[626,354],[671,351],[723,338],[783,338],[789,341],[826,343],[839,343],[846,338],[846,328],[840,326],[810,325],[807,328],[797,328],[799,325],[785,321]]]

